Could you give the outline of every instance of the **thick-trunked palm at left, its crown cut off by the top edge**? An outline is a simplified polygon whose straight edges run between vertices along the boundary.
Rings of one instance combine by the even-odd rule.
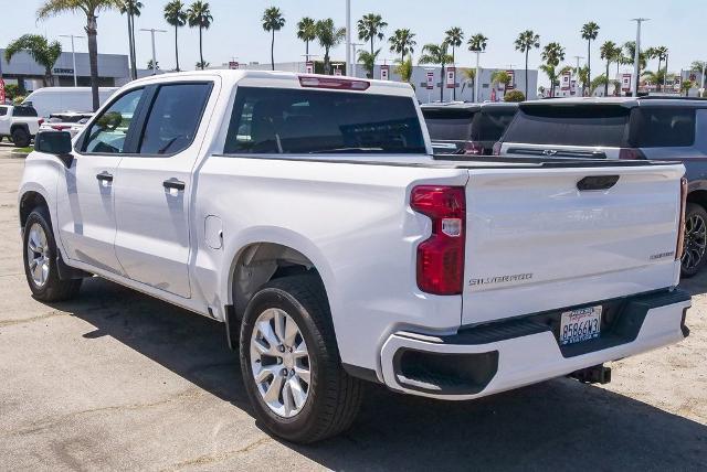
[[[101,105],[98,100],[98,13],[119,9],[118,0],[44,0],[36,11],[38,20],[56,17],[61,13],[84,13],[86,15],[86,36],[88,36],[88,63],[91,64],[91,95],[94,111]]]

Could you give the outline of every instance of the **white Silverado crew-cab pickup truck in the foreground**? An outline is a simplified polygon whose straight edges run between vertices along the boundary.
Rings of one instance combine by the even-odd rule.
[[[224,322],[257,418],[312,442],[361,380],[472,399],[683,340],[683,173],[435,160],[408,85],[214,71],[41,133],[19,210],[36,299],[96,275]]]

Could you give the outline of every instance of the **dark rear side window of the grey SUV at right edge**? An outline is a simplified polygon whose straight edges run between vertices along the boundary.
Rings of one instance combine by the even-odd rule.
[[[695,143],[695,109],[639,107],[632,117],[636,148],[680,148]]]

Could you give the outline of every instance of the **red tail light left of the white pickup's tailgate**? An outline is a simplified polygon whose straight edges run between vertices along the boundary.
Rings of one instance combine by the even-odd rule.
[[[432,219],[432,235],[418,246],[418,287],[433,294],[462,293],[466,244],[464,187],[415,186],[410,206]]]

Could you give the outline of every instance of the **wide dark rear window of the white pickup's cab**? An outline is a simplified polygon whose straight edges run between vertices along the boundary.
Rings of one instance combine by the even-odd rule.
[[[239,87],[224,153],[424,153],[412,98]]]

